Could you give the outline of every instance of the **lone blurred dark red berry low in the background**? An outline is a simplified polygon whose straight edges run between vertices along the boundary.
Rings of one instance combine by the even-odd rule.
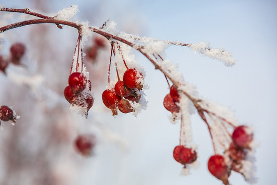
[[[74,141],[75,149],[82,155],[89,156],[95,145],[94,142],[95,138],[93,135],[79,135]]]

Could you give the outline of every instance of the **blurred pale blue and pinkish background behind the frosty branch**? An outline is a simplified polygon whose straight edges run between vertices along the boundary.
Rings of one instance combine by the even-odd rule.
[[[177,46],[166,50],[166,59],[179,64],[184,79],[195,84],[203,98],[231,107],[241,124],[254,126],[259,143],[255,154],[258,184],[277,181],[275,1],[4,0],[1,5],[49,16],[78,5],[80,12],[73,21],[101,26],[109,19],[127,33],[185,43],[206,41],[232,52],[233,67]],[[0,12],[0,26],[27,18]],[[168,85],[140,53],[134,52],[147,74],[147,110],[137,117],[120,113],[113,118],[103,105],[107,46],[95,60],[85,61],[95,98],[86,119],[71,112],[63,97],[77,40],[75,29],[31,25],[1,33],[0,38],[6,41],[1,54],[9,54],[14,42],[27,47],[23,66],[10,65],[7,76],[0,73],[0,104],[12,106],[21,116],[15,126],[2,122],[0,184],[221,184],[207,170],[212,145],[198,115],[192,115],[191,121],[199,167],[191,169],[190,175],[180,175],[182,166],[172,157],[179,143],[180,123],[170,123],[163,107]],[[86,47],[91,45],[88,40]],[[73,147],[74,138],[87,133],[95,136],[91,157],[81,156]],[[248,184],[236,173],[229,180]]]

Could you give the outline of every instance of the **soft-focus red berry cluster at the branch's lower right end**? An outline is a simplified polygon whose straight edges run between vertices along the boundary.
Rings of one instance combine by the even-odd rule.
[[[250,143],[253,140],[253,134],[245,125],[235,127],[232,134],[232,142],[228,150],[223,154],[212,155],[208,160],[208,170],[216,178],[229,184],[228,177],[231,171],[243,174],[243,163],[247,153],[251,149]]]

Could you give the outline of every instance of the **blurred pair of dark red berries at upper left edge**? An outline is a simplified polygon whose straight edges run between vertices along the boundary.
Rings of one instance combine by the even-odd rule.
[[[22,43],[14,43],[10,47],[10,57],[8,59],[4,58],[3,55],[0,55],[0,70],[5,73],[6,68],[9,63],[13,63],[15,65],[19,65],[20,61],[26,51],[26,47]]]

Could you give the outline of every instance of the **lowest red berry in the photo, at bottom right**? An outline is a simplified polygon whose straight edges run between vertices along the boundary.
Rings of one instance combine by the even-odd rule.
[[[226,164],[225,158],[222,155],[212,155],[209,158],[208,170],[214,177],[222,180],[223,182],[228,182],[230,168]]]

